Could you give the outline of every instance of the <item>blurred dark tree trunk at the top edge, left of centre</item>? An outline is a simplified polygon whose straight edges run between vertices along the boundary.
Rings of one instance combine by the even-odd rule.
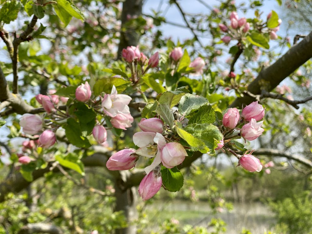
[[[132,28],[131,25],[127,25],[128,17],[141,16],[142,15],[142,2],[143,0],[126,0],[123,3],[122,15],[121,15],[121,30],[120,30],[120,42],[118,46],[118,59],[121,58],[122,49],[127,46],[137,46],[140,39],[140,34],[136,28]]]

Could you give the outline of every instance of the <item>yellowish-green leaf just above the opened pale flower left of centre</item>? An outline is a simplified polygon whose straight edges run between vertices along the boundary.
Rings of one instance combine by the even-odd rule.
[[[100,93],[110,93],[113,85],[115,85],[117,92],[122,92],[127,88],[127,85],[131,83],[129,80],[125,80],[121,77],[107,77],[99,79],[93,86],[94,95],[100,95]]]

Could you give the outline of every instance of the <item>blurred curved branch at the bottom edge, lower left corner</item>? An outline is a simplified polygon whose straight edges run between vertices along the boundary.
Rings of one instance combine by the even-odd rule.
[[[17,232],[17,234],[32,233],[63,234],[63,231],[59,227],[49,223],[28,223]]]

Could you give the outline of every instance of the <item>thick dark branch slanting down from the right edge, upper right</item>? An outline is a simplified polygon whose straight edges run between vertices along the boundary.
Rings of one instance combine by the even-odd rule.
[[[258,77],[250,83],[247,91],[253,95],[260,95],[261,90],[270,92],[282,80],[293,73],[298,67],[303,65],[312,57],[312,32],[298,44],[294,45],[281,58],[271,66],[263,69]],[[255,101],[254,97],[244,95],[236,98],[230,107],[241,107]]]

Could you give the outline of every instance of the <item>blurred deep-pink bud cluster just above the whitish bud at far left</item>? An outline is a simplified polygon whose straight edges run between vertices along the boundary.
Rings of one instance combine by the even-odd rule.
[[[36,100],[39,102],[43,109],[47,113],[51,113],[52,111],[55,111],[55,107],[59,104],[66,104],[68,101],[68,98],[66,97],[60,97],[58,95],[55,95],[55,90],[49,90],[49,95],[42,95],[38,94],[36,95]],[[60,103],[61,101],[61,103]]]

